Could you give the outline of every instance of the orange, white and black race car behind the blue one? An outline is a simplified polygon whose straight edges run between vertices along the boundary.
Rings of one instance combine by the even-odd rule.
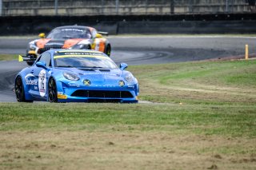
[[[98,32],[89,26],[60,26],[50,31],[50,34],[39,34],[40,39],[30,42],[26,49],[26,56],[37,58],[49,49],[94,49],[110,56],[110,42],[102,37],[104,32]],[[33,65],[33,61],[27,61]]]

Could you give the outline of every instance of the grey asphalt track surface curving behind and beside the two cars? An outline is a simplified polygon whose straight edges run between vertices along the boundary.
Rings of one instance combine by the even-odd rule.
[[[200,61],[256,53],[256,38],[222,36],[123,36],[108,38],[111,58],[119,64],[148,65]],[[0,38],[0,53],[24,54],[31,38]],[[14,102],[14,77],[25,62],[0,61],[0,102]]]

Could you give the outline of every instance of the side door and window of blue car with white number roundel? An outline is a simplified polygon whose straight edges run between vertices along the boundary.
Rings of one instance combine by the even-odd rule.
[[[31,73],[34,76],[34,81],[37,82],[37,85],[34,85],[34,87],[30,89],[30,94],[36,97],[36,100],[38,101],[46,101],[48,97],[47,82],[51,71],[50,58],[50,53],[42,53],[42,55],[38,57],[37,62],[44,61],[47,69],[38,67],[36,64],[34,64],[33,69],[31,69]]]

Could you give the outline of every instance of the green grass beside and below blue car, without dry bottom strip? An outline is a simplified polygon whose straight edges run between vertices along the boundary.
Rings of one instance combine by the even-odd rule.
[[[256,136],[255,60],[141,65],[130,70],[138,77],[142,100],[166,105],[2,103],[0,129],[136,125],[139,131]]]

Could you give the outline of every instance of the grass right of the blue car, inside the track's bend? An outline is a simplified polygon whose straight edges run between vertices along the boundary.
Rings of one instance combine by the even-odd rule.
[[[142,85],[142,100],[234,105],[256,102],[255,65],[255,60],[201,61],[140,65],[130,70]]]

